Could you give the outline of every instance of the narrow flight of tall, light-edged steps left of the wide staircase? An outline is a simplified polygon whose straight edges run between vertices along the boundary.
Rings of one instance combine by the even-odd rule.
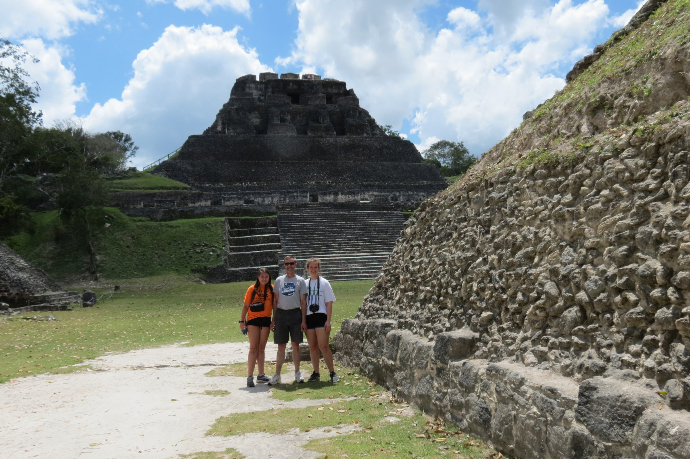
[[[253,281],[260,267],[270,269],[271,277],[276,278],[281,248],[276,217],[226,218],[224,228],[223,282]]]

